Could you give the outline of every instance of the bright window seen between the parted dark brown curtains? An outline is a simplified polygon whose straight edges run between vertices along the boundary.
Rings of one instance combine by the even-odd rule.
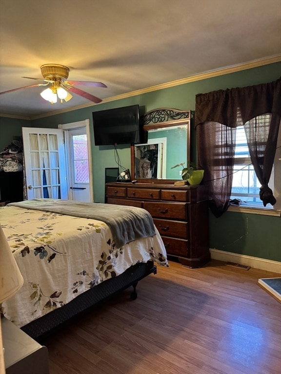
[[[271,114],[264,114],[257,117],[257,126],[269,127]],[[280,131],[279,131],[280,132]],[[277,203],[274,206],[263,206],[260,199],[261,184],[256,176],[254,167],[251,163],[250,154],[247,145],[244,126],[236,128],[235,160],[233,169],[233,181],[231,189],[231,199],[241,200],[241,206],[257,207],[264,209],[281,208],[281,160],[280,160],[280,138],[277,145],[275,162],[272,168],[269,181],[269,188],[272,189]],[[262,145],[261,145],[262,146]],[[264,144],[265,148],[266,144]],[[279,155],[279,156],[278,156]]]

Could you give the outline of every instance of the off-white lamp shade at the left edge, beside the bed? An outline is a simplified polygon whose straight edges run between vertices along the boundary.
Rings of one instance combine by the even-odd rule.
[[[22,285],[20,269],[0,226],[0,303],[14,296]]]

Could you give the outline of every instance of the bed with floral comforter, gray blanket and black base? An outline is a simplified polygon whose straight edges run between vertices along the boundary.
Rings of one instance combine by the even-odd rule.
[[[141,208],[33,199],[0,208],[24,284],[1,312],[38,339],[112,294],[168,266],[160,234]]]

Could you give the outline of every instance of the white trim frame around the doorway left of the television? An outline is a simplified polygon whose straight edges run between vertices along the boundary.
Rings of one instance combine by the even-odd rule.
[[[93,168],[92,168],[92,146],[91,146],[91,133],[90,133],[90,120],[85,119],[83,121],[78,122],[71,122],[71,123],[65,123],[65,124],[59,124],[59,129],[65,131],[68,130],[74,130],[74,129],[80,129],[85,128],[86,129],[86,135],[87,135],[87,150],[88,150],[88,168],[89,168],[89,189],[90,189],[90,202],[94,202],[94,188],[93,188]],[[65,136],[65,139],[67,137]],[[65,150],[66,150],[66,145]],[[66,155],[66,160],[68,160]],[[69,173],[69,165],[68,162],[66,163],[66,169]],[[70,185],[69,185],[69,176],[67,178],[67,188],[69,191]]]

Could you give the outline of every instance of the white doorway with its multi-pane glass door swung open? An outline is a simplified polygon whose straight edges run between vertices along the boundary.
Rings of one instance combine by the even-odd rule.
[[[89,122],[22,128],[28,200],[94,202]]]

